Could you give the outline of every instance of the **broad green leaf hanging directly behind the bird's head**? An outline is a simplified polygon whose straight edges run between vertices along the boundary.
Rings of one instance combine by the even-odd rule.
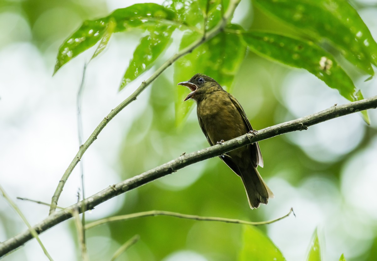
[[[236,25],[231,25],[231,28],[242,29]],[[201,35],[196,32],[187,32],[182,38],[180,49],[199,37]],[[218,81],[224,89],[230,90],[234,75],[244,60],[245,52],[246,47],[242,45],[240,35],[222,32],[176,61],[174,82],[188,81],[194,74],[203,73]],[[193,101],[183,102],[187,94],[189,94],[187,88],[178,86],[175,103],[177,126],[184,122],[195,104]]]

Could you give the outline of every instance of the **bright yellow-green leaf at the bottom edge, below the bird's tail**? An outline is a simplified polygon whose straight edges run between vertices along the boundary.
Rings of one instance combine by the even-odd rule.
[[[244,226],[243,246],[239,261],[285,261],[274,243],[253,226]]]

